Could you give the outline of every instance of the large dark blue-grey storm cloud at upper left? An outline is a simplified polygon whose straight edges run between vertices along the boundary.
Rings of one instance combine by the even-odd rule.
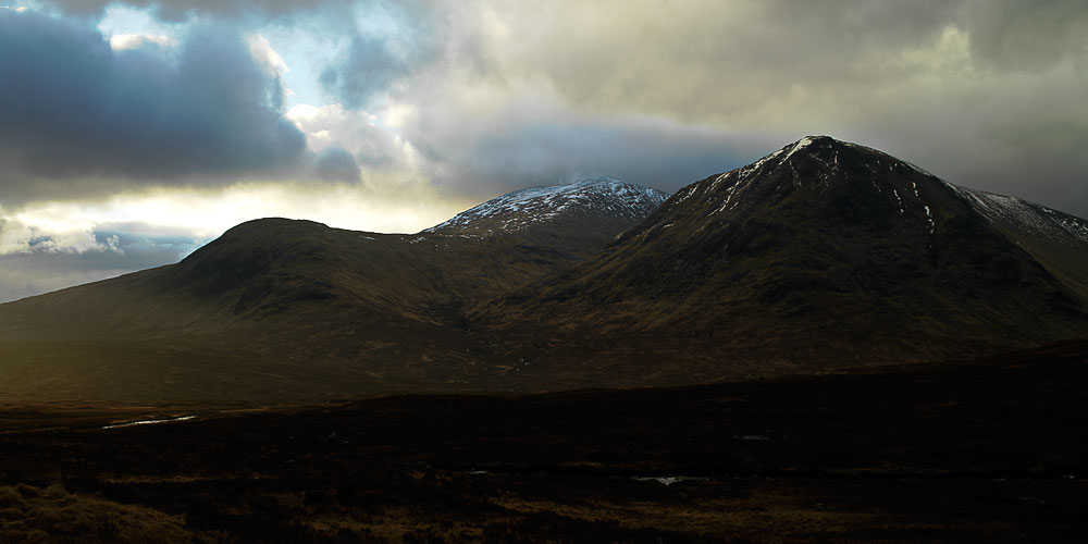
[[[20,180],[190,183],[305,157],[280,82],[237,33],[206,26],[176,51],[144,46],[113,51],[88,23],[0,10],[0,199],[17,198]]]

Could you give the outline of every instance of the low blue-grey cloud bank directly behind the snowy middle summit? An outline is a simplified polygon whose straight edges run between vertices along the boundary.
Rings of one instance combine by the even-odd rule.
[[[530,185],[605,175],[671,193],[782,145],[774,136],[738,135],[666,120],[556,118],[504,123],[462,148],[420,135],[421,147],[444,150],[432,151],[436,163],[463,165],[435,174],[447,188],[484,198]]]

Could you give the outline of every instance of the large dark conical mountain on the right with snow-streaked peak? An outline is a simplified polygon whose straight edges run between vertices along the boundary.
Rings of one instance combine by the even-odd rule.
[[[1085,337],[1086,280],[1088,221],[812,136],[472,316],[535,372],[639,385]]]

